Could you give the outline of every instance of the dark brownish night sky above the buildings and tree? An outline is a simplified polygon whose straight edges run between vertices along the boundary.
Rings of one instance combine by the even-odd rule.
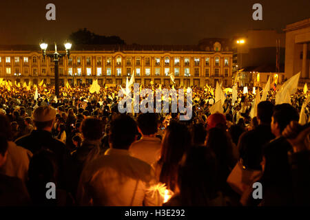
[[[45,19],[48,3],[56,5],[56,21]],[[254,3],[262,4],[262,21],[252,19]],[[280,31],[307,18],[309,0],[1,0],[0,45],[62,43],[79,28],[127,44],[196,45],[249,29]]]

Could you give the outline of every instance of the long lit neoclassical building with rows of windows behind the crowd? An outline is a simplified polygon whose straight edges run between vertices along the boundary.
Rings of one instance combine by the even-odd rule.
[[[59,51],[65,50],[60,47]],[[70,58],[59,61],[63,84],[90,84],[96,78],[101,85],[125,84],[133,72],[136,83],[145,85],[151,81],[172,84],[168,74],[173,72],[177,85],[203,87],[206,83],[216,85],[218,80],[229,87],[229,40],[203,39],[198,45],[72,45]],[[54,84],[54,61],[43,59],[39,45],[2,45],[0,77],[17,83],[37,84],[43,79],[46,84]]]

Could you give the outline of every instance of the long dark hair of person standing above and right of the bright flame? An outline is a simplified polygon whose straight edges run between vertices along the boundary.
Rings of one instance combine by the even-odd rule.
[[[177,168],[183,154],[191,146],[191,136],[187,126],[172,121],[165,130],[158,164],[162,166],[159,181],[167,188],[176,190]]]

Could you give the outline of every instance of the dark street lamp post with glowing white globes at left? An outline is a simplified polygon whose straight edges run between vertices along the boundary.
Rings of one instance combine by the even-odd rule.
[[[46,49],[48,48],[48,44],[47,43],[40,43],[40,47],[42,50],[42,55],[43,58],[45,60],[45,56],[48,56],[50,58],[54,58],[54,69],[55,69],[55,95],[56,97],[59,97],[59,58],[61,58],[62,56],[68,56],[68,58],[70,57],[70,49],[71,49],[72,44],[71,43],[65,43],[65,54],[61,54],[59,52],[57,52],[57,45],[55,43],[55,51],[54,53],[46,53]]]

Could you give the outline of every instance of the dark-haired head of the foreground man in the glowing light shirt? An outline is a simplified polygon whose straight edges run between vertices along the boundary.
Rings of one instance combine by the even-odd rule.
[[[138,129],[134,119],[130,115],[118,115],[110,124],[110,146],[116,149],[128,150],[136,140],[137,134]]]

